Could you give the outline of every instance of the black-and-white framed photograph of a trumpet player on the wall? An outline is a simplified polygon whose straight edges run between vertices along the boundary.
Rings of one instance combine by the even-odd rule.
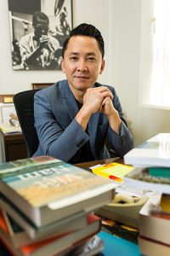
[[[14,70],[59,70],[72,0],[8,0]]]

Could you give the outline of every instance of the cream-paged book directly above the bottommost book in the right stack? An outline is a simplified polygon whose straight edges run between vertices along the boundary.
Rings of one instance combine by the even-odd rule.
[[[139,235],[165,243],[170,246],[170,221],[169,219],[156,218],[150,210],[160,205],[161,194],[155,193],[139,212]]]

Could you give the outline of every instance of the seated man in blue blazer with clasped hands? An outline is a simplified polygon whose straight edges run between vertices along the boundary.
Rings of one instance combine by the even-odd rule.
[[[40,142],[35,155],[70,163],[110,158],[106,137],[120,157],[133,148],[116,90],[96,82],[105,68],[104,55],[97,28],[81,24],[71,31],[62,53],[66,79],[35,95]]]

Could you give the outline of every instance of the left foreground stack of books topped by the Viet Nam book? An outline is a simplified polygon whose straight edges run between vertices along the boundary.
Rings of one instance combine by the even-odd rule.
[[[0,239],[10,253],[94,255],[101,250],[95,236],[101,220],[92,212],[114,198],[109,179],[48,156],[3,163],[0,170]]]

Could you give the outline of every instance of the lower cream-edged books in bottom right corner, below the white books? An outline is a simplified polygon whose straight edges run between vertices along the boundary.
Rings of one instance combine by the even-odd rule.
[[[144,255],[170,255],[170,194],[151,195],[140,210],[139,249]]]

